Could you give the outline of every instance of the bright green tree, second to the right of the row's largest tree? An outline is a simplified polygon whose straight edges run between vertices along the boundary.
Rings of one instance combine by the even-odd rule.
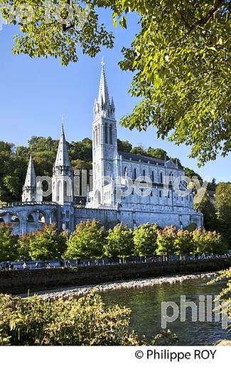
[[[134,255],[153,256],[156,253],[157,224],[141,224],[134,229]]]

